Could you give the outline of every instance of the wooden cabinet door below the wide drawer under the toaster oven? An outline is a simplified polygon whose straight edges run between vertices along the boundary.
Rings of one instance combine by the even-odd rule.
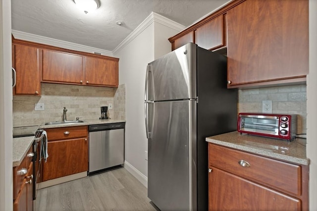
[[[209,211],[300,211],[301,201],[226,171],[209,173]]]

